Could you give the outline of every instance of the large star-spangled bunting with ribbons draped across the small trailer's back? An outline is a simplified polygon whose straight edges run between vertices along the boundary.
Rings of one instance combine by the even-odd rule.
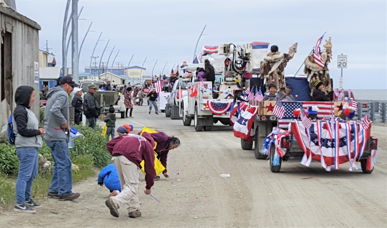
[[[339,164],[352,162],[351,159],[355,160],[356,155],[361,157],[363,147],[371,133],[370,129],[363,130],[358,122],[335,121],[334,125],[334,131],[331,131],[328,121],[312,122],[309,141],[307,129],[302,122],[291,121],[292,133],[305,154],[321,162],[323,167],[326,166],[327,171],[330,170],[329,166],[334,165],[336,169],[339,169]],[[350,132],[350,137],[348,132]],[[349,145],[347,145],[349,140]]]

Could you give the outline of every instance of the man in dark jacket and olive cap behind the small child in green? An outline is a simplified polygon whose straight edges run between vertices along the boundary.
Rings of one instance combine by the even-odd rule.
[[[101,108],[97,102],[97,98],[94,94],[97,92],[97,86],[94,84],[90,84],[87,86],[89,88],[89,92],[85,94],[83,99],[83,109],[89,123],[89,127],[95,128],[96,122],[99,114],[101,114]]]

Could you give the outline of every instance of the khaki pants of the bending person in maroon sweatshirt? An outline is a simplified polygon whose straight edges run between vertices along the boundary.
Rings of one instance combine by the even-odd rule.
[[[111,159],[118,172],[118,178],[121,183],[121,192],[110,199],[115,205],[126,207],[128,212],[134,212],[140,209],[139,205],[139,168],[136,164],[129,161],[125,156],[115,156]]]

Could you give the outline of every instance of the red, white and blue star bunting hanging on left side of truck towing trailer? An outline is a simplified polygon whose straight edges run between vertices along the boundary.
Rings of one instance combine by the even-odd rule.
[[[246,110],[238,117],[234,123],[234,136],[252,141],[251,130],[255,115],[258,112],[258,106],[247,105]]]

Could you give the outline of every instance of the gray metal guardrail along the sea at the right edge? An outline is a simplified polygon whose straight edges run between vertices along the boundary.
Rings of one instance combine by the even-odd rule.
[[[369,118],[373,123],[387,123],[387,101],[358,101],[358,119],[363,118],[367,113],[369,114]]]

